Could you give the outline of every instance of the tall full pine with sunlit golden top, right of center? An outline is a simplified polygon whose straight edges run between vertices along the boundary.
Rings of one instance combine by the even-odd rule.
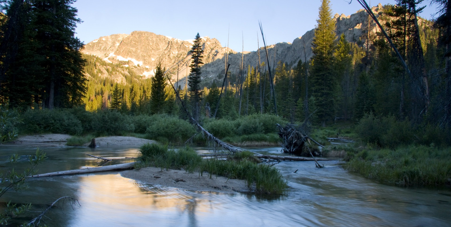
[[[325,126],[326,121],[335,114],[334,90],[336,78],[333,72],[333,49],[335,23],[329,0],[322,0],[319,8],[318,25],[313,38],[313,64],[311,67],[313,96],[316,100],[319,120]]]

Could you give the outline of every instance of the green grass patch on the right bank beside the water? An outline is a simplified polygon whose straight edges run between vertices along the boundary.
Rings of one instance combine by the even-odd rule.
[[[414,146],[396,150],[362,150],[348,158],[345,168],[401,186],[445,186],[451,178],[451,148]]]

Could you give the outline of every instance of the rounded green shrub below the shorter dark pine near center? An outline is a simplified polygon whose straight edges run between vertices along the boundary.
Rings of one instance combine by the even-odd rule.
[[[172,142],[182,142],[195,133],[196,130],[187,121],[166,114],[152,115],[152,124],[146,130],[148,138],[166,137]]]

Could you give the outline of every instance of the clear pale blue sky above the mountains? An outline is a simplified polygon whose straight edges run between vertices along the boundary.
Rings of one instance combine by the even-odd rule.
[[[356,0],[330,0],[333,14],[354,14],[362,9]],[[368,5],[395,4],[395,0],[367,0]],[[85,44],[101,36],[133,31],[153,32],[181,40],[200,36],[216,38],[222,46],[241,52],[263,46],[258,22],[267,45],[292,42],[315,28],[321,0],[77,0],[76,36]],[[429,0],[421,17],[430,19],[436,5]]]

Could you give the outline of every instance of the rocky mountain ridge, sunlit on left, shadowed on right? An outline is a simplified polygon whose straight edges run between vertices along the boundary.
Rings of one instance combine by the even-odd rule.
[[[379,4],[372,10],[378,16],[382,5]],[[344,33],[348,41],[359,45],[364,45],[368,29],[370,34],[379,31],[373,20],[368,24],[368,14],[363,9],[350,16],[336,14],[333,19],[336,21],[337,38]],[[305,62],[313,56],[311,44],[314,30],[305,32],[292,43],[281,42],[267,46],[268,57],[264,47],[242,54],[223,47],[215,38],[202,37],[205,63],[202,66],[202,83],[209,86],[216,80],[220,84],[218,77],[223,78],[225,74],[226,59],[230,64],[229,72],[235,75],[240,72],[242,58],[245,71],[248,65],[256,67],[259,62],[269,62],[271,68],[279,61],[290,66],[296,66],[299,60]],[[186,76],[189,74],[189,50],[192,45],[193,40],[180,40],[152,32],[135,31],[130,34],[102,36],[87,43],[82,52],[96,55],[107,62],[119,63],[124,68],[129,67],[128,70],[131,69],[143,77],[152,77],[156,64],[161,62],[162,67],[170,68],[172,79],[178,79],[179,85],[184,86]]]

